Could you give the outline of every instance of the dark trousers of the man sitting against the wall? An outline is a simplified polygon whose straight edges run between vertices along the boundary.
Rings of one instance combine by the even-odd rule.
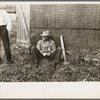
[[[48,58],[52,62],[59,62],[60,57],[61,57],[60,47],[58,47],[56,51],[54,51],[50,56],[46,56],[46,57],[44,57],[42,53],[35,46],[31,48],[31,60],[32,61],[40,61],[43,58]]]

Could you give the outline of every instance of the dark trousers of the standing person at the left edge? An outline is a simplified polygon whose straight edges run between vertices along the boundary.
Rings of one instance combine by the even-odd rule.
[[[11,51],[10,51],[10,44],[9,44],[9,36],[8,36],[8,30],[6,29],[5,25],[0,26],[0,38],[3,42],[6,59],[7,59],[7,61],[11,62]],[[1,55],[0,55],[0,60],[1,60]]]

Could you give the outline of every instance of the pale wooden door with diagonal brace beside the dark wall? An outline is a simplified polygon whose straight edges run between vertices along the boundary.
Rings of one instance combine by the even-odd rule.
[[[17,43],[23,47],[30,45],[30,5],[17,5]]]

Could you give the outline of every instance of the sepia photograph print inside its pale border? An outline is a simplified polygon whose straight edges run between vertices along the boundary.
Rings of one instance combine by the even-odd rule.
[[[0,82],[99,82],[100,4],[0,4]]]

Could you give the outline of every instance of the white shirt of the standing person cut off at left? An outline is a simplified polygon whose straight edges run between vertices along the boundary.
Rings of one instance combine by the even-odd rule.
[[[6,10],[0,10],[0,26],[6,25],[8,31],[11,31],[11,20]]]

